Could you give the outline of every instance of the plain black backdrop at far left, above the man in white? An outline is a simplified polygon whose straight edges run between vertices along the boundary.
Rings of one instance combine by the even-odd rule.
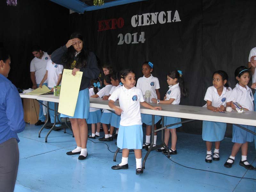
[[[47,52],[64,44],[68,37],[69,10],[46,0],[18,0],[17,6],[0,1],[0,47],[11,54],[9,79],[21,89],[32,87],[30,61],[33,45]]]

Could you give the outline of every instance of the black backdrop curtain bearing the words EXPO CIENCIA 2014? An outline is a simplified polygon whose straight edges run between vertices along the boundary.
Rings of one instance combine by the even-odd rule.
[[[149,0],[71,14],[69,29],[83,33],[100,63],[117,71],[132,68],[139,78],[141,64],[153,62],[162,98],[167,72],[182,70],[189,96],[180,104],[203,106],[214,71],[226,71],[233,88],[235,69],[247,66],[256,46],[255,7],[254,0]],[[143,33],[144,43],[139,41]],[[180,130],[200,134],[201,127],[196,121]]]

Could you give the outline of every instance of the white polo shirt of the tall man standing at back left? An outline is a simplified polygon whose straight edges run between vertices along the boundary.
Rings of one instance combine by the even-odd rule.
[[[40,84],[44,78],[46,72],[47,61],[50,59],[49,55],[46,52],[43,52],[44,55],[42,59],[34,58],[30,62],[30,72],[36,72],[36,84]],[[47,83],[47,79],[44,83]]]

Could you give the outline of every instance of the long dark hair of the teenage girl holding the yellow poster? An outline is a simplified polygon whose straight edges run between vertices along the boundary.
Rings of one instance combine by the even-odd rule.
[[[87,50],[85,50],[84,48],[84,38],[80,33],[72,33],[70,36],[70,39],[74,39],[74,38],[78,38],[81,39],[83,41],[83,49],[81,50],[81,52],[77,55],[77,60],[76,60],[76,68],[84,68],[86,66],[86,61],[87,61],[87,57],[89,52]],[[64,68],[66,69],[70,69],[71,68],[71,64],[74,61],[74,55],[76,53],[76,50],[74,49],[73,46],[68,47],[68,51],[64,53],[64,55],[62,56],[62,62],[65,63]]]

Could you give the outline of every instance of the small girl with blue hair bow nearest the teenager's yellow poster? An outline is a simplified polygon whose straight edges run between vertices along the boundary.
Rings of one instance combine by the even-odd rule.
[[[100,82],[98,79],[91,80],[91,87],[89,88],[89,96],[97,94],[100,91]],[[90,107],[89,119],[87,119],[87,124],[92,126],[92,134],[88,135],[88,138],[95,139],[100,136],[100,119],[101,119],[101,110],[99,108]],[[97,125],[97,131],[96,131]]]

